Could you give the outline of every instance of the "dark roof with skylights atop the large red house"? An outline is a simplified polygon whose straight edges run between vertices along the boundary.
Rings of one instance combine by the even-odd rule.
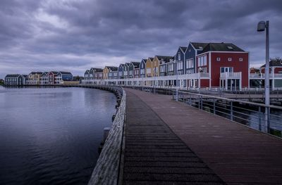
[[[207,46],[204,47],[202,53],[207,51],[244,51],[243,49],[240,49],[238,46],[235,46],[235,44],[232,43],[209,43]]]

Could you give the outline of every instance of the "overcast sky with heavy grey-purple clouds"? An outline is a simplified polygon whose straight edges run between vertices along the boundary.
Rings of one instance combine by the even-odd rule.
[[[250,66],[282,57],[281,0],[1,0],[0,78],[61,70],[83,75],[156,55],[173,56],[189,42],[233,43]]]

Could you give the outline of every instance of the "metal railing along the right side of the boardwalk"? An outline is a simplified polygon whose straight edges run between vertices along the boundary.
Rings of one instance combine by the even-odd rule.
[[[216,96],[173,91],[173,99],[252,129],[282,137],[282,107]],[[267,111],[265,111],[267,109]],[[269,114],[266,114],[268,112]],[[268,117],[269,119],[266,119]],[[266,121],[268,120],[268,121]]]

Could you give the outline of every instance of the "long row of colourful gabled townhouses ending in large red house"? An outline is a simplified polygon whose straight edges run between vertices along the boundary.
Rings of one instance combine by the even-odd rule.
[[[231,43],[190,42],[188,46],[179,46],[174,56],[154,56],[118,67],[91,68],[85,71],[82,82],[242,89],[249,87],[249,53]]]

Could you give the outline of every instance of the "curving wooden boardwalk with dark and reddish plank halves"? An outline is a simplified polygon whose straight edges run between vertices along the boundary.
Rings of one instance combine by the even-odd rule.
[[[171,96],[125,91],[123,184],[282,184],[281,139]]]

